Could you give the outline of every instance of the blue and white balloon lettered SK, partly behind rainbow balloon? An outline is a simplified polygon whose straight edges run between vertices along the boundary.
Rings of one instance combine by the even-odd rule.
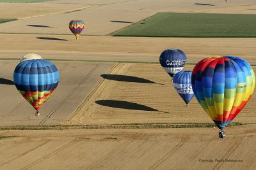
[[[174,89],[178,92],[180,97],[182,97],[186,103],[186,107],[188,107],[189,102],[194,97],[191,86],[191,74],[192,71],[180,71],[173,76]]]

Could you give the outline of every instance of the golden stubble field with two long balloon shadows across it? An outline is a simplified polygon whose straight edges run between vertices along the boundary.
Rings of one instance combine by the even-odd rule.
[[[192,70],[186,66],[184,70]],[[253,67],[255,70],[256,67]],[[195,97],[185,107],[159,64],[116,64],[65,124],[205,123],[211,118]],[[256,97],[234,122],[255,124]]]

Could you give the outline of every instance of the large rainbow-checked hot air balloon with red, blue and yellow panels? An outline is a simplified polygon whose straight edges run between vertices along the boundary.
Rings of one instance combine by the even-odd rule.
[[[191,80],[196,99],[220,129],[220,138],[225,138],[224,127],[252,97],[252,67],[238,57],[210,57],[196,64]]]

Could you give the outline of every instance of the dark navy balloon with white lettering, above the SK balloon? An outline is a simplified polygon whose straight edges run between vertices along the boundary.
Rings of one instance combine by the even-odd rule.
[[[182,50],[168,49],[161,53],[159,62],[163,69],[173,77],[174,74],[179,73],[186,65],[187,56]]]

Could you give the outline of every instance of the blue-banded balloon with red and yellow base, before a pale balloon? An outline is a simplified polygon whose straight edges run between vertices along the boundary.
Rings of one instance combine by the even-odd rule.
[[[17,90],[35,108],[36,116],[39,116],[40,108],[59,83],[59,71],[49,60],[24,60],[15,68],[13,80]]]

